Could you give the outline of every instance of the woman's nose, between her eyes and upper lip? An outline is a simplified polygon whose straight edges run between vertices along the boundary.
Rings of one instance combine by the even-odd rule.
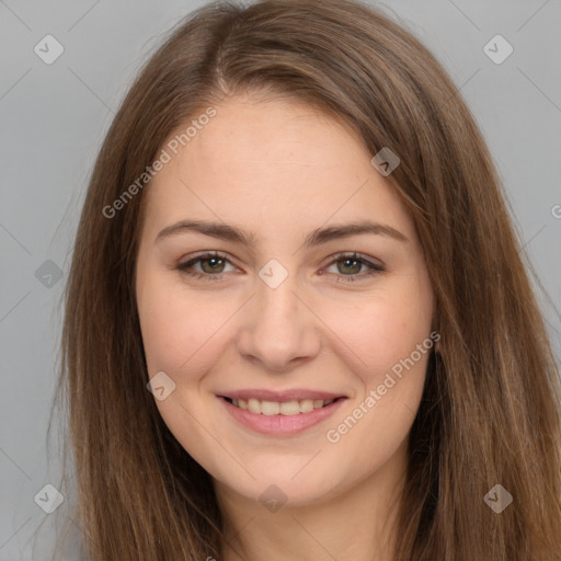
[[[266,371],[285,373],[311,360],[321,347],[321,321],[298,294],[296,275],[276,288],[257,279],[244,307],[238,352]]]

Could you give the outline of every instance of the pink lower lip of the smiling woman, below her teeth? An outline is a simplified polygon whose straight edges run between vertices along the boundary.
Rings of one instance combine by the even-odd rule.
[[[314,409],[309,413],[298,413],[297,415],[263,415],[250,413],[245,409],[237,408],[232,405],[224,398],[218,398],[230,415],[239,421],[242,425],[252,428],[253,431],[276,436],[289,436],[301,433],[307,428],[310,428],[321,421],[324,421],[331,416],[345,401],[344,398],[337,399],[333,403],[325,405],[321,409]]]

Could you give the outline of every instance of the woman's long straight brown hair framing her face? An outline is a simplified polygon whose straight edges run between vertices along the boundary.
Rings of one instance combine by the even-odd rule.
[[[202,107],[244,92],[309,103],[401,160],[388,180],[414,221],[442,339],[410,435],[398,559],[561,559],[559,371],[492,159],[433,55],[350,0],[198,9],[108,130],[76,238],[60,375],[90,559],[221,557],[210,477],[146,388],[134,279],[149,182],[103,209]],[[484,501],[496,484],[513,496],[500,514]]]

